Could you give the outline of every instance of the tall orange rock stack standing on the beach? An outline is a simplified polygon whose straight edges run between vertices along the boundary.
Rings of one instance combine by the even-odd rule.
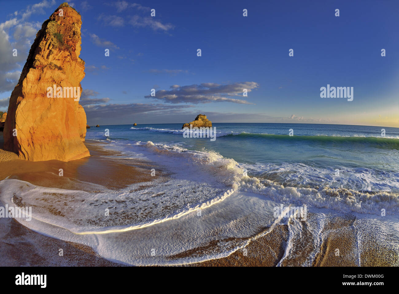
[[[12,91],[4,126],[4,149],[20,159],[70,161],[90,156],[83,143],[86,114],[79,101],[74,101],[73,95],[57,97],[58,89],[54,98],[48,97],[53,85],[64,87],[63,93],[65,87],[82,92],[85,62],[79,58],[81,24],[76,10],[63,3],[36,34]]]

